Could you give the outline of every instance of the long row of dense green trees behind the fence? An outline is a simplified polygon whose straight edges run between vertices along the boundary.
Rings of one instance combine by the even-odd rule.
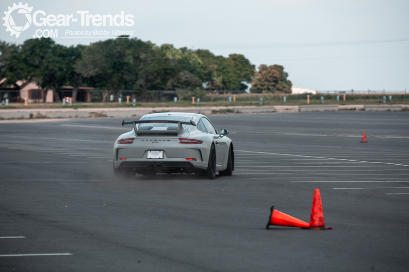
[[[126,36],[65,47],[50,38],[26,40],[22,45],[0,42],[0,78],[5,84],[35,81],[54,92],[73,86],[110,90],[117,99],[120,90],[134,91],[141,101],[149,90],[291,90],[288,74],[280,65],[261,65],[259,71],[242,54],[216,56],[206,49],[157,46]]]

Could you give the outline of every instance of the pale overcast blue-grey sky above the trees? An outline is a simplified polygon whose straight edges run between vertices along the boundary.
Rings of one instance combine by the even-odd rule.
[[[1,0],[1,12],[13,6]],[[26,1],[23,2],[25,4]],[[62,38],[66,30],[133,30],[157,45],[244,54],[256,67],[284,66],[293,86],[316,90],[409,91],[408,0],[29,0],[47,15],[73,14],[70,26],[31,24],[19,38],[1,24],[0,39],[17,44],[37,29],[58,29],[55,41],[86,44],[103,38]],[[16,1],[18,4],[18,1]],[[131,14],[133,26],[81,26],[89,14]],[[15,24],[23,24],[12,13]],[[38,18],[37,17],[37,21]],[[24,25],[24,24],[23,24]],[[352,42],[352,43],[350,43]]]

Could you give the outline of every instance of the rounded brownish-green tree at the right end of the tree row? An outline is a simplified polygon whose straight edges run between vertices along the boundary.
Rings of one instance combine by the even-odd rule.
[[[258,67],[258,72],[254,74],[251,91],[280,91],[291,92],[292,83],[287,79],[288,74],[284,72],[281,65],[267,66],[262,64]]]

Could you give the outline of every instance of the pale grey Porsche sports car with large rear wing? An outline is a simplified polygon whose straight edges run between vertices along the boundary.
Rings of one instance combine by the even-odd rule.
[[[122,134],[113,147],[113,171],[116,177],[135,178],[135,173],[195,173],[209,179],[231,176],[234,148],[226,136],[217,132],[202,114],[153,113],[140,120],[122,122],[134,129]]]

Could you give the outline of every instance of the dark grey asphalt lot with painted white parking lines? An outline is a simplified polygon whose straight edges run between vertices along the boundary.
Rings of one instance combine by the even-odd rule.
[[[0,271],[409,271],[408,112],[210,120],[231,177],[115,181],[122,119],[0,124]],[[332,230],[266,230],[314,188]]]

